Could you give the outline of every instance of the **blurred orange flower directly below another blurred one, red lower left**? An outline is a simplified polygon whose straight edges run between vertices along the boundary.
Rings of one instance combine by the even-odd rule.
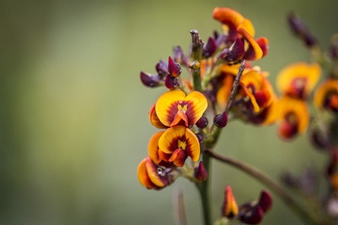
[[[279,134],[284,139],[292,139],[308,127],[308,108],[306,103],[298,98],[283,96],[278,101],[277,119],[280,120]]]

